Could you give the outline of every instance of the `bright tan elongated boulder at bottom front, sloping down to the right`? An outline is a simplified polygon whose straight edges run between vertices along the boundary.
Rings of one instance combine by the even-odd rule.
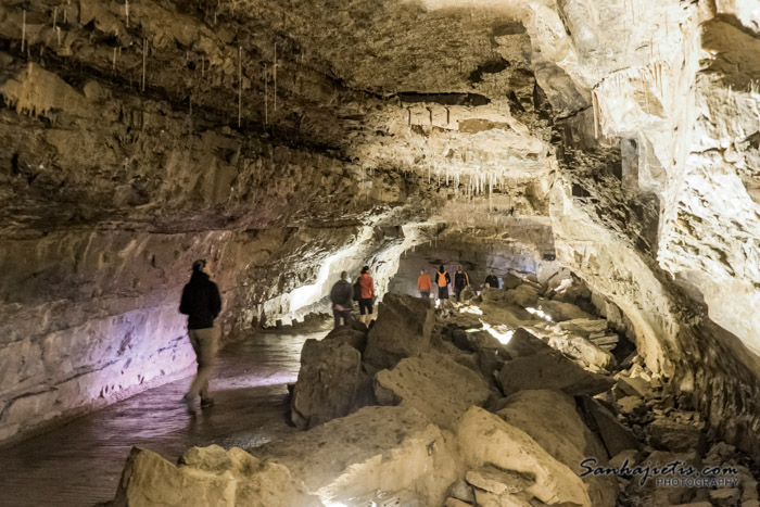
[[[525,492],[545,504],[570,503],[591,506],[583,481],[567,465],[555,459],[521,429],[479,407],[463,416],[457,429],[459,446],[470,470],[491,467],[489,480],[509,486],[515,472],[530,478]]]

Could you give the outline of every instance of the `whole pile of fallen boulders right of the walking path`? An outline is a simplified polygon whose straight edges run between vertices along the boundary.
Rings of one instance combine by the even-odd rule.
[[[708,492],[641,485],[636,474],[581,477],[587,458],[594,467],[701,465],[725,462],[732,451],[713,446],[704,455],[698,418],[668,406],[661,379],[637,357],[618,366],[594,343],[611,337],[604,319],[523,320],[531,314],[518,303],[531,290],[521,287],[485,291],[480,314],[438,317],[421,300],[387,295],[370,330],[342,327],[306,342],[292,419],[308,431],[250,449],[244,473],[239,449],[229,459],[191,449],[231,462],[217,468],[130,459],[119,498],[181,505],[187,498],[176,490],[190,481],[208,505],[242,505],[251,492],[269,495],[256,484],[277,473],[280,496],[261,505],[753,505],[749,480]],[[494,315],[530,326],[507,340],[492,334]],[[746,464],[740,470],[751,479]]]

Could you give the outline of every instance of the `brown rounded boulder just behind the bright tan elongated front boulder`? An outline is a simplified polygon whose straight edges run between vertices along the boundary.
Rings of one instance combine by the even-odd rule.
[[[581,473],[581,461],[596,458],[607,465],[607,451],[575,411],[575,401],[561,391],[520,391],[506,401],[497,416],[533,438],[547,453]],[[611,477],[587,476],[588,496],[595,507],[615,506],[618,482]]]

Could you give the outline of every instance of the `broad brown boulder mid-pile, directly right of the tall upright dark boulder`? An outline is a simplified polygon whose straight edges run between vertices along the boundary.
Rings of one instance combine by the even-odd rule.
[[[442,354],[423,353],[378,371],[375,395],[382,405],[414,407],[441,428],[453,429],[468,408],[485,402],[489,385],[471,368]]]

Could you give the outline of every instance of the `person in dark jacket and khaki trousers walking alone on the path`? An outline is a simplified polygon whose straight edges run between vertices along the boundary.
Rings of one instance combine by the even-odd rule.
[[[190,283],[185,286],[179,304],[179,312],[188,316],[188,334],[198,360],[198,373],[182,397],[190,414],[195,414],[195,396],[199,394],[201,408],[214,404],[214,398],[208,396],[208,378],[216,355],[217,335],[214,319],[220,310],[219,289],[211,281],[211,268],[205,261],[195,261],[192,263]]]

